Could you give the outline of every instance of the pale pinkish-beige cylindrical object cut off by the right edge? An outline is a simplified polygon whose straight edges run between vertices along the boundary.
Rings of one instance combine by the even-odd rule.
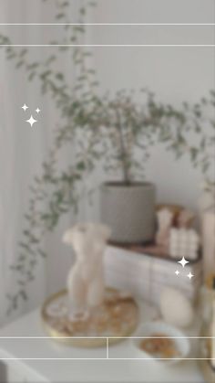
[[[204,277],[215,272],[215,211],[206,210],[202,217]]]

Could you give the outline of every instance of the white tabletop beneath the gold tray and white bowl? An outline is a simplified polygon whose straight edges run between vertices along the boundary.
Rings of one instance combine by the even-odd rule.
[[[146,304],[142,304],[141,312],[143,321],[156,315]],[[25,338],[20,338],[22,336]],[[106,359],[105,347],[83,349],[57,344],[56,341],[46,337],[39,310],[27,314],[0,331],[0,359],[8,366],[26,370],[28,376],[34,377],[37,381],[57,383],[59,381],[203,383],[204,381],[195,360],[184,360],[174,366],[163,366],[158,362],[155,365],[155,362],[149,360],[130,359],[131,355],[130,339],[109,346],[109,359]]]

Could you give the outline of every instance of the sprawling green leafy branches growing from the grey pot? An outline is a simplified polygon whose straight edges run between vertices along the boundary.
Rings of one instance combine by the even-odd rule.
[[[65,23],[65,33],[61,41],[51,43],[53,49],[42,60],[32,61],[28,49],[13,48],[10,39],[0,35],[0,44],[7,46],[6,59],[13,59],[16,69],[24,69],[29,81],[39,81],[41,92],[52,98],[60,112],[51,150],[40,176],[30,186],[26,226],[12,265],[16,285],[8,294],[9,311],[27,298],[27,285],[36,277],[38,257],[46,257],[46,233],[56,228],[63,214],[77,211],[82,181],[97,165],[109,175],[120,172],[120,182],[129,186],[144,179],[151,146],[161,142],[177,157],[189,155],[192,165],[204,176],[210,174],[215,122],[208,110],[214,112],[215,93],[196,105],[184,103],[179,108],[157,101],[148,90],[100,95],[96,71],[89,65],[91,52],[78,47],[85,36],[87,11],[95,4],[87,1],[79,9],[76,26],[69,25],[69,6],[68,1],[56,2],[56,20]],[[68,56],[76,73],[71,86],[59,64]],[[61,170],[58,159],[68,144],[76,152],[72,164]]]

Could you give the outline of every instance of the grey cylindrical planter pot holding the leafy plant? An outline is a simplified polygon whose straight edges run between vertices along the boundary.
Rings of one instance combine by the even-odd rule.
[[[100,190],[101,221],[112,229],[111,240],[140,243],[155,235],[155,186],[107,183]]]

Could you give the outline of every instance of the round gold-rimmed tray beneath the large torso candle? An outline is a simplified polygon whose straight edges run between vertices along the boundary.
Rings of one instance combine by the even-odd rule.
[[[42,307],[46,333],[69,346],[98,347],[123,340],[138,324],[138,304],[126,293],[106,289],[104,303],[95,308],[87,319],[71,320],[67,291],[56,293]]]

